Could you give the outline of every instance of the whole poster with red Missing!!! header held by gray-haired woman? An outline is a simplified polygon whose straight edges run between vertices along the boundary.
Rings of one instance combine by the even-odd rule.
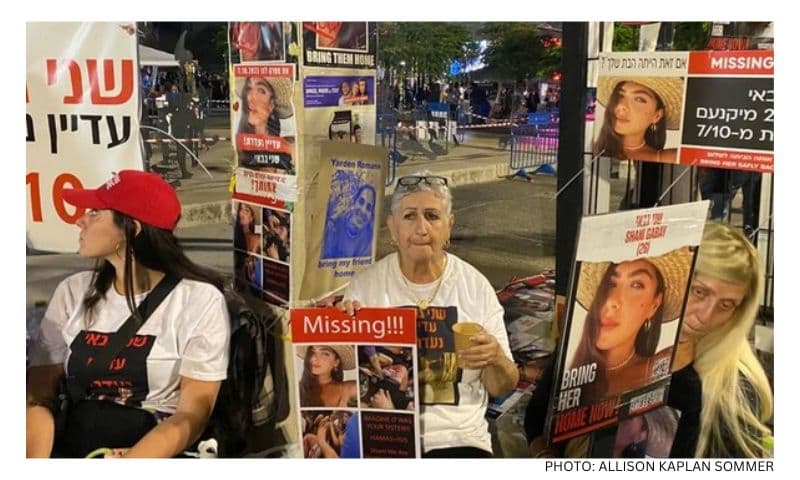
[[[416,311],[291,309],[304,458],[420,457]]]

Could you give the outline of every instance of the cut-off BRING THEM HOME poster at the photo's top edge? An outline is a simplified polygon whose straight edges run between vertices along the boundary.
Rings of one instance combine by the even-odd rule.
[[[375,22],[303,22],[303,65],[376,67]]]

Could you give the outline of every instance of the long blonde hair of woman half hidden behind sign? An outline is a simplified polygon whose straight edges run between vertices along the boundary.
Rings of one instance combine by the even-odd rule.
[[[755,247],[729,225],[708,223],[695,272],[747,285],[730,320],[695,345],[694,368],[703,385],[700,437],[695,457],[765,457],[764,424],[772,415],[772,391],[747,340],[758,314],[764,273]]]

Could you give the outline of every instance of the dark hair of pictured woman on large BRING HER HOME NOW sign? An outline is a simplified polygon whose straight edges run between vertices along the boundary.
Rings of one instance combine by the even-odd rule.
[[[611,277],[614,275],[614,272],[616,272],[617,265],[616,263],[610,264],[603,274],[600,286],[597,288],[597,292],[592,300],[592,305],[586,313],[581,340],[572,360],[572,368],[589,365],[591,363],[597,364],[594,382],[584,387],[584,392],[588,392],[588,396],[585,398],[599,398],[608,391],[608,379],[606,377],[607,365],[602,352],[597,348],[597,336],[600,331],[600,311],[611,290]],[[634,349],[636,355],[640,357],[651,357],[653,353],[655,353],[658,339],[661,336],[661,320],[664,314],[664,304],[666,303],[666,298],[664,298],[664,295],[666,295],[664,277],[655,266],[653,266],[653,270],[656,272],[655,296],[657,297],[661,294],[663,300],[650,319],[650,327],[646,328],[647,322],[645,322],[636,334]]]

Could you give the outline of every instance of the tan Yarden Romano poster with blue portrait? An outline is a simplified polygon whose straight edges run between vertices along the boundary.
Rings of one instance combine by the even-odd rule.
[[[306,243],[300,300],[323,298],[372,264],[383,204],[386,150],[322,142],[318,156],[306,159],[306,169],[301,187]]]

